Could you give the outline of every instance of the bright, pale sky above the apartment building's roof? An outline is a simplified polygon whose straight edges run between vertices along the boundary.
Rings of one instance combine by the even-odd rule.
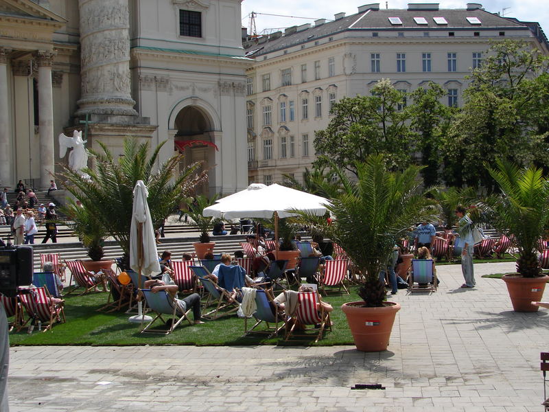
[[[357,8],[363,4],[375,3],[373,0],[244,0],[242,1],[242,27],[248,27],[250,12],[266,14],[283,14],[285,16],[310,17],[312,19],[334,19],[334,14],[339,12],[355,14]],[[429,0],[389,0],[388,8],[406,9],[408,3],[435,3]],[[549,36],[549,7],[543,5],[540,0],[449,0],[440,1],[440,8],[465,8],[467,3],[481,3],[484,10],[488,12],[504,12],[506,17],[514,17],[522,21],[537,21]],[[337,4],[336,4],[337,3]],[[380,7],[385,7],[385,1],[379,1]],[[505,9],[505,10],[503,10]],[[274,29],[313,23],[311,19],[291,19],[278,16],[257,15],[255,24],[257,33],[264,29]]]

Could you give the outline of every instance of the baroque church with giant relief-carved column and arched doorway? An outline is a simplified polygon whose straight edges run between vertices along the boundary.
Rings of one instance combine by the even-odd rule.
[[[126,136],[202,161],[203,192],[248,183],[240,0],[0,0],[0,184],[49,186],[58,135]]]

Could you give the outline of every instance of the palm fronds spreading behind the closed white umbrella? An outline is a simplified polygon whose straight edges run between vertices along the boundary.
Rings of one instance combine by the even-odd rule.
[[[199,163],[176,176],[181,155],[174,155],[157,165],[159,151],[165,142],[149,156],[148,142],[140,144],[137,139],[126,138],[124,155],[117,161],[105,144],[98,143],[101,152],[88,150],[95,168],[82,170],[89,179],[68,165],[62,166],[58,177],[84,208],[99,220],[108,235],[115,238],[124,251],[124,262],[129,262],[133,189],[137,181],[143,181],[148,189],[150,216],[158,227],[181,199],[207,176],[203,172],[196,174]]]

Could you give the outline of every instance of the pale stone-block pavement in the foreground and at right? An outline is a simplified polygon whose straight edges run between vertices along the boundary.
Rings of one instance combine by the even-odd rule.
[[[13,347],[11,411],[542,411],[549,311],[515,313],[478,264],[439,266],[432,295],[400,291],[388,350],[335,347]],[[546,290],[545,299],[549,300]],[[385,389],[351,390],[356,383]]]

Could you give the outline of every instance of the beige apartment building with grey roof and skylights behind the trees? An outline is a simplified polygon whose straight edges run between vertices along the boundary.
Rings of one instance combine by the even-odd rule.
[[[502,38],[549,53],[538,23],[478,3],[455,10],[439,10],[438,3],[406,10],[362,5],[351,16],[248,40],[246,56],[255,59],[246,71],[249,181],[280,182],[283,174],[301,181],[315,159],[315,131],[327,127],[334,102],[369,95],[382,78],[406,92],[437,82],[447,90],[443,102],[460,106],[465,76],[481,64],[489,42]]]

